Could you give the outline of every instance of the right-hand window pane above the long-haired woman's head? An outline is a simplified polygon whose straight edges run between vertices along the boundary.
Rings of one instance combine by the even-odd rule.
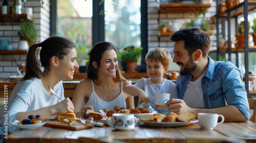
[[[105,1],[105,40],[117,49],[134,45],[141,46],[140,1]]]

